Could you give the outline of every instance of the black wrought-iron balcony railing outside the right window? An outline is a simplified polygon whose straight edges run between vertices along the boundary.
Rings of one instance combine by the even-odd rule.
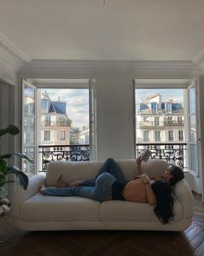
[[[169,165],[187,168],[187,143],[137,143],[136,154],[141,156],[145,149],[152,152],[151,159],[163,159]]]

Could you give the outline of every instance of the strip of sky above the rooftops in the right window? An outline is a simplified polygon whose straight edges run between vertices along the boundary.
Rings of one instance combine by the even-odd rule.
[[[183,89],[136,89],[136,103],[156,94],[163,95],[163,101],[173,99],[183,104]]]

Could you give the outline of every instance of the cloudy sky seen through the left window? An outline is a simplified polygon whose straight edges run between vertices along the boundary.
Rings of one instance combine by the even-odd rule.
[[[67,116],[73,127],[82,128],[89,124],[89,90],[88,89],[41,89],[47,92],[51,101],[67,102]]]

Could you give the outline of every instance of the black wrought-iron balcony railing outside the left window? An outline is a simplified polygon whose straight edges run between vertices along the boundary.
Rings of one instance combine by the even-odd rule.
[[[46,145],[39,146],[41,170],[46,172],[50,161],[89,161],[90,147],[86,145]]]

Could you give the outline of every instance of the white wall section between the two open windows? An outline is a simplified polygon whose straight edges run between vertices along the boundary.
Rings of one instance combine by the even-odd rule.
[[[134,157],[133,78],[120,74],[96,77],[99,160]]]

